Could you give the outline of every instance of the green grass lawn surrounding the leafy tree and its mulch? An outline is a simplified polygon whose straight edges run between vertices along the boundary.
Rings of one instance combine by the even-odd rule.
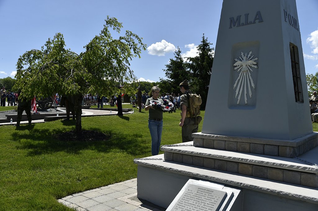
[[[73,121],[23,125],[19,130],[12,125],[0,126],[0,209],[72,210],[57,199],[136,178],[133,159],[151,156],[151,138],[148,112],[134,109],[134,114],[123,117],[82,118],[84,130],[108,133],[111,139],[107,141],[63,142],[53,138],[73,130]],[[182,142],[180,111],[164,113],[163,118],[162,145]]]

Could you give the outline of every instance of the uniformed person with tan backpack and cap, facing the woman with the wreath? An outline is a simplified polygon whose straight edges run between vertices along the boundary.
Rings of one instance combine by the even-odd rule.
[[[198,131],[198,123],[196,122],[195,117],[190,116],[189,112],[189,97],[188,94],[192,94],[189,90],[188,80],[184,80],[179,85],[180,91],[183,95],[181,95],[180,106],[181,106],[181,119],[179,126],[182,127],[182,142],[193,141],[192,133],[197,133]],[[197,111],[197,120],[201,118],[200,111]],[[201,121],[201,119],[199,120]]]

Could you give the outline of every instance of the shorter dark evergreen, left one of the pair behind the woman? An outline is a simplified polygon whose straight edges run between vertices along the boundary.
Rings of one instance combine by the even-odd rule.
[[[186,63],[181,56],[181,50],[177,47],[174,59],[170,58],[170,62],[166,66],[165,75],[168,79],[160,78],[160,82],[163,90],[166,92],[180,93],[179,84],[185,79],[190,78],[190,71],[187,68]]]

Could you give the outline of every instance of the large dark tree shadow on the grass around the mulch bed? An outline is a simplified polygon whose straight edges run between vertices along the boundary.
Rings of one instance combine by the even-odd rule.
[[[20,143],[19,149],[29,149],[28,156],[55,152],[79,154],[86,149],[103,153],[123,151],[133,156],[150,152],[149,141],[142,139],[140,133],[101,131],[99,128],[89,128],[89,130],[108,134],[110,138],[104,141],[60,141],[54,138],[54,135],[64,133],[65,130],[33,129],[28,134],[14,132],[12,140]]]

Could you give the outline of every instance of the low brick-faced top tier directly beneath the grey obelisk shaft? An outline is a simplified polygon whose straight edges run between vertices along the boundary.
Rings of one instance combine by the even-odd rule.
[[[193,146],[243,153],[293,158],[318,145],[318,133],[312,132],[294,140],[259,139],[193,133]]]

